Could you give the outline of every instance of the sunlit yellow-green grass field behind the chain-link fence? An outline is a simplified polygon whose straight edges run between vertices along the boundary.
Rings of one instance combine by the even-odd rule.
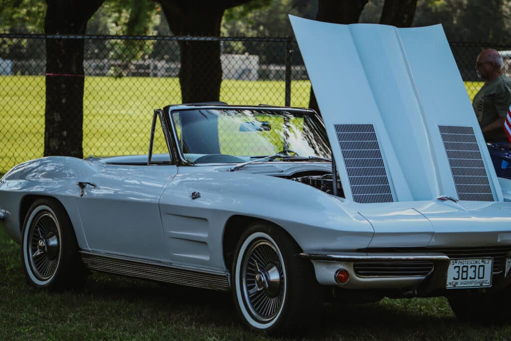
[[[472,99],[479,82],[466,82]],[[291,105],[307,107],[310,83],[293,81]],[[224,80],[229,104],[284,105],[283,81]],[[44,148],[43,76],[0,76],[0,172],[41,157]],[[177,78],[86,77],[84,156],[147,153],[152,109],[181,103]]]

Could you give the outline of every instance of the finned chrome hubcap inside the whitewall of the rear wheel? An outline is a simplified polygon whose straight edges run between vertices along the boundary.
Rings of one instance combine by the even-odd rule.
[[[30,225],[27,253],[33,274],[39,280],[48,280],[60,261],[59,228],[49,212],[38,214]]]

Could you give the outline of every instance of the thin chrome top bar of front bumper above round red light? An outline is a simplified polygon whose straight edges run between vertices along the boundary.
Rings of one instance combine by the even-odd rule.
[[[449,260],[446,255],[432,253],[432,254],[404,254],[404,255],[385,255],[385,254],[316,254],[316,253],[301,253],[300,257],[311,260],[323,260],[334,262],[355,262],[355,261],[386,261],[386,260]]]

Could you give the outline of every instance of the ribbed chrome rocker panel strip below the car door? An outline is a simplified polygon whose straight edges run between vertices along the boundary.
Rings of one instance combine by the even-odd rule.
[[[197,288],[230,290],[230,278],[227,272],[198,270],[185,266],[88,251],[80,251],[80,256],[85,266],[91,270]]]

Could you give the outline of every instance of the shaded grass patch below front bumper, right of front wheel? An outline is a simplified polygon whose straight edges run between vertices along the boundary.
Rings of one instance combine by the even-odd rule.
[[[327,305],[312,339],[507,339],[509,327],[457,320],[445,298],[384,299],[374,304]],[[498,336],[502,335],[502,336]]]

